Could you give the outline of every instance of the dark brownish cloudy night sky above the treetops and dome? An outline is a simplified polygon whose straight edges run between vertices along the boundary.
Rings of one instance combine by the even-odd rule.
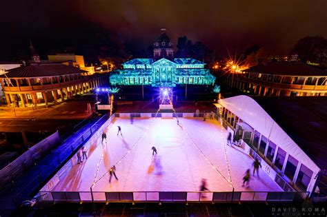
[[[302,37],[327,37],[326,0],[2,0],[0,8],[0,45],[8,55],[28,48],[29,39],[47,50],[99,29],[146,49],[165,27],[175,44],[186,35],[219,53],[259,44],[286,54]]]

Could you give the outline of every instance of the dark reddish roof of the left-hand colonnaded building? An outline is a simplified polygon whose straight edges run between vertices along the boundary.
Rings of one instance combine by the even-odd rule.
[[[80,74],[86,71],[80,70],[63,64],[31,64],[23,65],[19,68],[8,70],[6,75],[0,77],[8,78],[32,78],[32,77],[46,77],[46,76],[60,76],[65,74]]]

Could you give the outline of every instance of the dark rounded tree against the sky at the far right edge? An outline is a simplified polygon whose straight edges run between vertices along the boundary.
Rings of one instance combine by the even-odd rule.
[[[293,46],[292,54],[298,54],[299,59],[308,63],[327,65],[327,39],[324,37],[304,37]]]

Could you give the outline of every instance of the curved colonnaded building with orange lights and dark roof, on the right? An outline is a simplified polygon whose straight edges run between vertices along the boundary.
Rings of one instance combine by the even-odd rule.
[[[224,83],[257,96],[327,96],[327,71],[297,62],[258,64]]]

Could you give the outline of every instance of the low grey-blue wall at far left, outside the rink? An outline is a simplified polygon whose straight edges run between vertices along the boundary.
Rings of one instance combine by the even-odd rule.
[[[23,174],[30,167],[35,165],[39,159],[54,147],[61,143],[59,133],[54,132],[36,145],[33,145],[26,152],[21,154],[14,161],[0,170],[0,189],[14,183],[14,180]]]

